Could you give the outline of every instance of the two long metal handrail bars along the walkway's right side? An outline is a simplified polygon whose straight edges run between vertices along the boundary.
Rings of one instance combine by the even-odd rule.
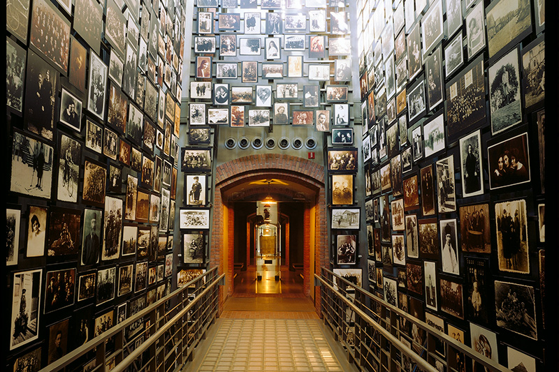
[[[364,290],[363,288],[355,285],[354,283],[351,283],[350,281],[347,281],[345,278],[342,278],[341,276],[338,276],[333,271],[331,271],[329,269],[326,269],[324,267],[322,268],[322,270],[324,272],[326,272],[327,274],[330,274],[331,276],[335,277],[337,281],[341,281],[342,283],[344,283],[344,285],[351,286],[351,288],[354,289],[356,292],[359,292],[361,295],[363,295],[365,297],[368,297],[369,299],[376,302],[380,306],[382,306],[382,307],[388,309],[389,311],[391,311],[391,313],[394,313],[395,315],[400,316],[400,318],[405,318],[407,321],[409,321],[411,323],[414,323],[416,326],[420,327],[421,329],[426,331],[428,334],[431,334],[432,336],[435,336],[440,341],[443,341],[447,345],[451,346],[453,349],[456,350],[456,352],[463,353],[464,355],[466,355],[470,359],[473,359],[474,361],[478,362],[479,364],[482,364],[483,366],[487,367],[488,369],[491,369],[491,371],[499,371],[499,372],[509,371],[509,369],[505,368],[504,366],[501,366],[500,364],[495,363],[492,359],[489,359],[485,355],[479,354],[479,352],[476,352],[476,351],[472,350],[472,348],[469,348],[465,344],[456,341],[451,336],[448,336],[447,334],[444,334],[444,333],[440,332],[438,329],[435,329],[435,328],[431,327],[426,322],[423,322],[423,321],[415,318],[414,316],[409,315],[405,311],[402,311],[400,308],[398,308],[396,306],[393,306],[393,305],[389,304],[388,302],[385,302],[383,299],[379,299],[379,297],[377,297],[376,295],[373,295],[371,292],[368,292],[367,290]],[[400,352],[402,352],[404,355],[406,355],[410,359],[414,360],[414,362],[416,362],[416,364],[418,364],[418,366],[420,366],[421,369],[426,369],[427,371],[435,371],[435,372],[437,371],[436,369],[434,369],[433,366],[428,364],[427,361],[425,359],[423,359],[420,355],[418,355],[413,350],[410,350],[406,345],[401,343],[401,341],[398,340],[398,338],[395,338],[395,336],[393,336],[393,334],[389,333],[381,324],[379,324],[379,322],[372,319],[369,315],[364,313],[361,310],[361,308],[359,308],[353,302],[351,302],[349,299],[347,299],[347,297],[343,293],[340,292],[340,289],[339,289],[340,285],[337,285],[338,289],[336,290],[336,288],[334,288],[330,283],[328,283],[328,281],[326,281],[326,279],[322,278],[321,276],[319,276],[317,274],[314,274],[314,277],[316,278],[316,280],[318,280],[320,283],[322,283],[322,285],[326,285],[326,288],[328,288],[328,290],[331,290],[337,297],[342,299],[342,302],[347,304],[347,306],[349,306],[349,308],[351,308],[352,311],[355,311],[355,313],[360,318],[365,320],[365,322],[367,322],[370,326],[372,326],[377,332],[381,333],[389,342],[391,342],[393,345],[395,345],[395,347],[398,348],[398,350],[400,350]],[[356,296],[356,301],[357,301],[357,296]],[[371,308],[368,308],[367,306],[365,306],[365,304],[363,302],[359,302],[359,305],[366,308],[368,311],[370,311],[372,313],[375,313],[375,311],[373,311]],[[425,364],[426,364],[426,366],[425,366]]]

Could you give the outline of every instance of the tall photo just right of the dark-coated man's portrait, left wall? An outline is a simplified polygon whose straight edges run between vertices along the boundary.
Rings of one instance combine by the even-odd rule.
[[[103,223],[103,248],[101,260],[119,258],[122,241],[122,199],[105,197],[105,221]]]

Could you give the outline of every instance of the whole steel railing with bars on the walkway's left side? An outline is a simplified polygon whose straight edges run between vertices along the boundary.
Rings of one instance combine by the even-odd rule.
[[[224,276],[218,275],[217,267],[208,270],[41,372],[181,369],[187,360],[192,360],[194,348],[218,317],[218,285],[223,285]],[[85,369],[85,365],[92,364],[94,367]]]

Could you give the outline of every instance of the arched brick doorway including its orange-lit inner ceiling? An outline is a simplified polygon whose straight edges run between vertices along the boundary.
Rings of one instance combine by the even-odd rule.
[[[235,203],[254,202],[268,193],[285,202],[286,207],[289,203],[302,207],[303,293],[318,297],[319,292],[311,288],[312,276],[320,267],[328,265],[324,167],[296,156],[262,154],[219,165],[215,174],[210,267],[219,266],[220,271],[226,273],[222,301],[234,291],[235,237],[247,236],[246,227],[242,232],[239,225],[235,228],[235,209],[240,213]],[[259,184],[269,179],[281,183],[270,184],[269,189]],[[249,254],[245,262],[250,263]]]

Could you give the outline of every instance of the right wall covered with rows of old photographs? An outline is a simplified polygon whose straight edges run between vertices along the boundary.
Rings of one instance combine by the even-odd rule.
[[[495,362],[536,371],[544,1],[358,8],[369,287]]]

